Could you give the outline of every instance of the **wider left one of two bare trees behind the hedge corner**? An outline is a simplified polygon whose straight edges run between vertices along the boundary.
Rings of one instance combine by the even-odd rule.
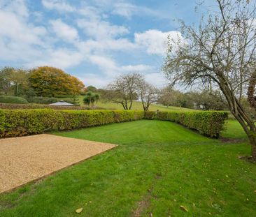
[[[108,84],[104,98],[113,103],[120,103],[125,110],[131,110],[132,103],[138,98],[136,85],[140,77],[138,73],[120,75]]]

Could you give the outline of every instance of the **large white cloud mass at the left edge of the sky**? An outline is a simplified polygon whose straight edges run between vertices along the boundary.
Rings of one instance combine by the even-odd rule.
[[[0,10],[0,59],[28,61],[40,51],[35,47],[45,48],[47,31],[44,27],[35,27],[27,23],[27,8],[22,1],[12,1]],[[18,6],[22,9],[17,9]],[[20,10],[16,13],[15,10]]]

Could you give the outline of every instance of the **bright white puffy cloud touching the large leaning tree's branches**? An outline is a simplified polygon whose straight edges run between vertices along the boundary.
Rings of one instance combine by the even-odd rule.
[[[162,32],[157,29],[150,29],[144,33],[134,33],[135,43],[144,47],[148,54],[164,55],[167,50],[167,37],[175,41],[182,39],[179,31],[166,31]]]

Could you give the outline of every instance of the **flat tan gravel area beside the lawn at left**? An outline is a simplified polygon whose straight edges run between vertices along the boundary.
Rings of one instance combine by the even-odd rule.
[[[57,135],[0,140],[0,193],[116,147]]]

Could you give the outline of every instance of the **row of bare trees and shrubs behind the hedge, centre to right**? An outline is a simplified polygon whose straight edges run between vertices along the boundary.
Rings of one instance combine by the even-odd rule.
[[[197,110],[225,110],[227,105],[218,91],[189,91],[183,93],[172,87],[158,89],[145,81],[140,73],[120,75],[108,84],[106,89],[91,88],[101,92],[101,98],[122,105],[124,110],[131,110],[134,101],[141,102],[143,110],[148,111],[152,103],[176,107],[187,107]]]

